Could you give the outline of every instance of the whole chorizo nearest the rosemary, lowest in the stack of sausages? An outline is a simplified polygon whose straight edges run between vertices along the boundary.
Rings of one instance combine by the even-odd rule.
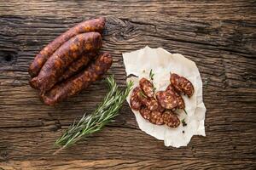
[[[101,54],[94,63],[91,63],[84,71],[67,79],[61,84],[55,85],[49,92],[43,94],[41,97],[46,105],[55,105],[69,96],[79,94],[84,88],[87,88],[90,83],[95,82],[108,71],[112,65],[112,58],[110,54]]]

